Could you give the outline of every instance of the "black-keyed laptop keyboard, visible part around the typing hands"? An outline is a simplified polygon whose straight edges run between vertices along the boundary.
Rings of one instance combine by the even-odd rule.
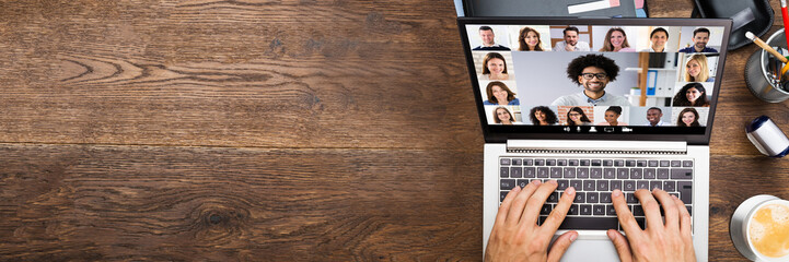
[[[544,182],[555,179],[558,188],[539,211],[538,224],[542,225],[547,218],[565,189],[573,187],[576,199],[559,229],[620,230],[611,202],[611,192],[619,189],[636,222],[645,228],[643,209],[634,195],[635,191],[653,188],[665,190],[680,198],[691,212],[693,166],[692,159],[676,158],[500,157],[499,203],[515,186],[525,187],[532,180]]]

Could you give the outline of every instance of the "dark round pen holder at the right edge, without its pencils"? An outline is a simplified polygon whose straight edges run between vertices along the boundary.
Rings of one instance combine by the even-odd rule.
[[[779,29],[774,33],[765,41],[771,47],[787,48],[786,38],[784,37],[784,29]],[[768,75],[768,57],[771,56],[769,52],[758,49],[747,59],[745,63],[745,83],[751,93],[764,102],[779,103],[789,98],[789,92],[778,84],[771,83],[771,78]],[[780,73],[780,69],[778,69]]]

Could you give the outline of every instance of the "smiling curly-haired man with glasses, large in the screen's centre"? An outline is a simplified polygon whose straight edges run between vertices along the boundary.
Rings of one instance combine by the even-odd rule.
[[[572,59],[567,66],[567,78],[583,91],[557,98],[552,106],[630,106],[627,98],[605,92],[605,86],[616,80],[619,67],[603,55],[587,55]]]

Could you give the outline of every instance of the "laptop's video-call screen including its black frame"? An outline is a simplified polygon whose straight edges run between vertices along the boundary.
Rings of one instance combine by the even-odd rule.
[[[459,21],[486,135],[708,141],[730,21]]]

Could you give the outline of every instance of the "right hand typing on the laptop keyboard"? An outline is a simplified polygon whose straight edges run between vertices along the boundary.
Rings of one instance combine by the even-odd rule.
[[[665,213],[665,224],[660,217],[660,206]],[[691,214],[682,200],[670,195],[663,190],[646,189],[636,191],[647,216],[646,230],[641,230],[625,203],[622,191],[614,190],[611,200],[614,202],[619,225],[627,238],[619,231],[610,229],[608,238],[614,242],[622,262],[630,261],[696,261],[691,238]]]

